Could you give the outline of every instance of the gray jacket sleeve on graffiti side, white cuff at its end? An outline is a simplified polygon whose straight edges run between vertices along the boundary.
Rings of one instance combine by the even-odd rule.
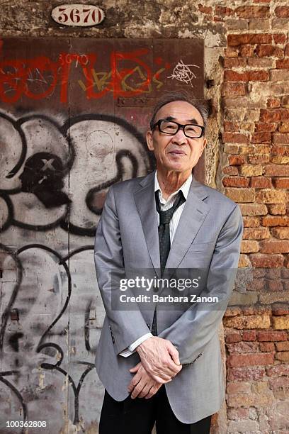
[[[125,279],[125,269],[113,187],[108,190],[96,230],[94,262],[98,287],[113,335],[113,347],[115,354],[118,355],[142,335],[149,333],[149,328],[137,303],[132,310],[128,311],[121,306],[119,301],[118,282],[120,279]],[[129,289],[126,295],[132,295]]]

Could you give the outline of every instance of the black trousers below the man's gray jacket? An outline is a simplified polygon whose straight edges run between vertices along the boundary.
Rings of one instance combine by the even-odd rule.
[[[164,385],[149,399],[128,396],[124,401],[115,401],[106,391],[99,434],[151,434],[154,423],[157,434],[209,434],[211,418],[196,423],[179,421],[171,410]]]

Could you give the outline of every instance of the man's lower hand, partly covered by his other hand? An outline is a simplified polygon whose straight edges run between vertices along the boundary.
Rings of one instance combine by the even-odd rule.
[[[152,398],[152,396],[154,396],[162,386],[161,383],[156,382],[149,374],[147,374],[147,371],[142,366],[142,362],[137,363],[135,367],[130,369],[130,372],[132,374],[136,372],[128,385],[128,391],[131,392],[130,397],[132,399],[137,397],[145,399]]]

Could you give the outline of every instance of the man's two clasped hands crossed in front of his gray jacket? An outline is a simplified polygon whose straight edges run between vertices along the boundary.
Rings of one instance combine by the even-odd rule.
[[[128,385],[131,398],[152,398],[162,384],[169,383],[181,371],[179,352],[166,339],[153,336],[137,347],[140,362],[130,369],[135,376]]]

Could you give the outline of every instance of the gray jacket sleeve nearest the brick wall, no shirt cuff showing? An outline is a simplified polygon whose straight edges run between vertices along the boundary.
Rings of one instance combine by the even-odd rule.
[[[195,362],[203,354],[222,321],[234,287],[243,233],[242,213],[238,205],[222,226],[208,270],[205,289],[199,296],[217,296],[219,303],[193,304],[178,320],[159,334],[179,350],[182,365]]]

